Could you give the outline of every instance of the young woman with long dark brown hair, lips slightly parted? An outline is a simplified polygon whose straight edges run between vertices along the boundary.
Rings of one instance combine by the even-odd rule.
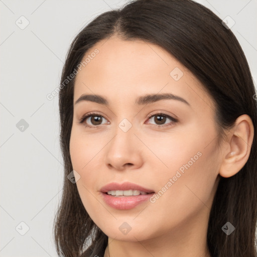
[[[256,92],[215,14],[189,0],[101,14],[61,83],[59,256],[257,256]]]

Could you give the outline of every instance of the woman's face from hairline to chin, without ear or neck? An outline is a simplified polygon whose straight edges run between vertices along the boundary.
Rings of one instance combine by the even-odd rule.
[[[157,45],[112,37],[83,60],[88,55],[75,81],[70,155],[89,216],[109,237],[123,241],[199,226],[218,183],[212,99]],[[75,103],[83,94],[100,95],[108,104],[92,97]],[[140,98],[149,94],[177,98]],[[114,186],[109,189],[117,195],[108,196],[101,191],[111,182],[131,182],[149,194],[118,196],[115,190],[130,194],[142,188]]]

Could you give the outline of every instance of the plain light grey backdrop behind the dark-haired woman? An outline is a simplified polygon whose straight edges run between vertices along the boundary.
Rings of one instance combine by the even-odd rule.
[[[230,16],[235,21],[231,30],[256,82],[257,1],[197,2],[222,20]],[[125,3],[0,0],[0,256],[57,255],[52,227],[61,199],[63,161],[58,95],[53,100],[46,95],[58,87],[65,55],[79,30],[99,14]],[[21,16],[29,21],[23,29],[26,19]]]

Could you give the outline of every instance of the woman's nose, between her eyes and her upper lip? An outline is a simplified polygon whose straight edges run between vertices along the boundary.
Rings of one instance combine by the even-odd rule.
[[[142,165],[143,144],[134,133],[133,127],[126,132],[117,127],[105,150],[105,163],[109,169],[123,171]]]

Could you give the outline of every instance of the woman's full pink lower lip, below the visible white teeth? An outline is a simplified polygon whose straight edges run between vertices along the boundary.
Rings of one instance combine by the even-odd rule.
[[[119,210],[128,210],[136,207],[142,202],[145,202],[154,195],[154,193],[146,195],[133,195],[133,196],[124,196],[124,197],[115,197],[105,193],[101,193],[103,200],[110,207],[119,209]]]

